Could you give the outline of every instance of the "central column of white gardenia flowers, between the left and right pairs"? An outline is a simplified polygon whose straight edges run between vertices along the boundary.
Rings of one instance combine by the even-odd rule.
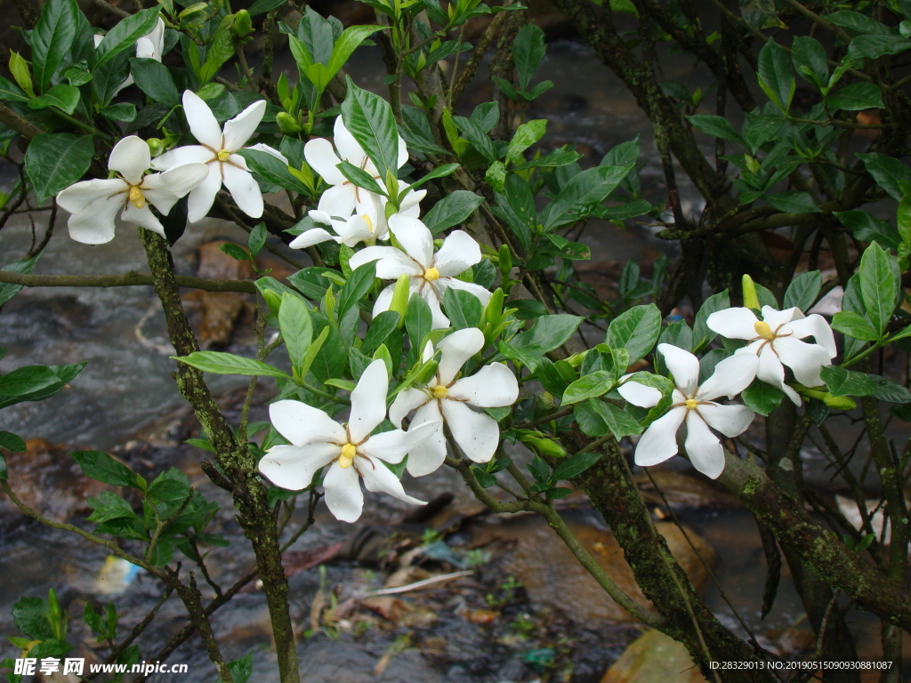
[[[434,330],[449,327],[449,319],[441,308],[446,289],[468,291],[486,304],[491,296],[489,291],[456,278],[481,260],[477,242],[466,232],[454,230],[443,246],[434,250],[430,230],[418,219],[418,202],[426,194],[423,189],[405,194],[399,210],[387,221],[388,199],[358,188],[338,169],[344,160],[379,178],[373,162],[344,127],[342,117],[335,120],[334,132],[334,149],[328,140],[314,139],[305,146],[304,155],[332,186],[323,192],[310,216],[331,226],[336,234],[322,228],[310,229],[293,240],[291,246],[299,249],[335,240],[354,247],[364,242],[368,246],[354,254],[349,262],[351,268],[356,270],[376,261],[376,275],[383,280],[408,275],[409,296],[415,294],[427,302]],[[399,168],[407,158],[404,141],[399,138]],[[407,188],[400,180],[399,194]],[[389,240],[390,235],[402,249],[374,246],[376,240]],[[389,309],[394,288],[394,284],[389,285],[377,297],[374,316]],[[312,484],[322,467],[330,465],[322,479],[326,504],[337,519],[345,522],[353,522],[361,515],[363,493],[358,475],[368,491],[383,491],[408,503],[422,503],[404,493],[402,483],[384,462],[400,463],[407,454],[409,474],[423,476],[434,472],[445,460],[444,427],[447,427],[468,458],[486,463],[499,444],[499,425],[486,413],[468,406],[502,407],[518,398],[516,376],[503,363],[490,363],[469,377],[460,376],[462,366],[484,345],[484,333],[476,328],[452,332],[437,344],[436,350],[428,342],[422,361],[431,360],[438,351],[437,372],[430,382],[415,384],[395,397],[388,413],[398,427],[393,432],[370,436],[386,417],[388,376],[382,361],[371,363],[353,390],[351,416],[346,426],[306,403],[287,400],[273,403],[271,422],[291,445],[271,448],[260,462],[261,473],[282,488],[300,490]],[[412,411],[416,413],[411,424],[407,431],[402,431],[402,420]]]

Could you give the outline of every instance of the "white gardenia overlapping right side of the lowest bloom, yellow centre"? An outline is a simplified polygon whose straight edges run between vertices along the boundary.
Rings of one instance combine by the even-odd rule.
[[[516,375],[501,362],[485,365],[470,377],[459,377],[465,362],[484,348],[484,332],[475,327],[455,331],[437,348],[442,353],[434,379],[399,393],[389,408],[389,419],[395,426],[401,426],[402,418],[415,409],[412,429],[419,424],[435,425],[435,431],[408,455],[408,472],[412,476],[430,474],[443,464],[443,423],[469,458],[476,463],[488,462],[500,443],[500,427],[494,418],[468,406],[499,408],[516,403],[518,398]],[[434,347],[427,342],[424,362],[433,356]]]

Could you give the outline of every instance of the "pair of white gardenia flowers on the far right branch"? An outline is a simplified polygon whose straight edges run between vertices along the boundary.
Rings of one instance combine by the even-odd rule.
[[[715,479],[724,469],[724,452],[711,430],[728,437],[738,436],[755,417],[744,405],[722,405],[715,399],[722,395],[733,399],[758,378],[778,387],[800,405],[800,396],[784,382],[784,366],[791,368],[797,382],[804,386],[823,383],[820,371],[835,357],[834,335],[825,319],[815,313],[804,317],[797,308],[775,311],[764,306],[762,313],[763,320],[747,308],[716,311],[709,316],[706,323],[711,331],[748,343],[719,362],[702,384],[696,356],[671,344],[659,344],[658,352],[676,387],[671,392],[668,412],[649,425],[636,445],[636,464],[659,464],[677,454],[677,432],[685,422],[685,446],[692,465]],[[801,341],[810,336],[816,343]],[[661,399],[657,389],[635,381],[621,384],[619,392],[643,408],[652,408]]]

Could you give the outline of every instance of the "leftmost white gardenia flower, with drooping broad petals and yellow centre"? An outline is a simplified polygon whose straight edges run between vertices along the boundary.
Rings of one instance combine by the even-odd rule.
[[[165,236],[151,204],[166,216],[178,199],[197,187],[209,172],[204,164],[183,164],[164,173],[146,170],[151,163],[148,145],[136,136],[123,138],[111,150],[107,168],[117,178],[85,180],[57,194],[57,204],[67,209],[69,236],[84,244],[104,244],[114,239],[114,219],[120,218]]]

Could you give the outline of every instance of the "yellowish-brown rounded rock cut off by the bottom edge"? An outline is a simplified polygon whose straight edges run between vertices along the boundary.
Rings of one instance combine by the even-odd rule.
[[[690,653],[659,631],[648,631],[633,641],[608,669],[601,683],[703,683]]]

